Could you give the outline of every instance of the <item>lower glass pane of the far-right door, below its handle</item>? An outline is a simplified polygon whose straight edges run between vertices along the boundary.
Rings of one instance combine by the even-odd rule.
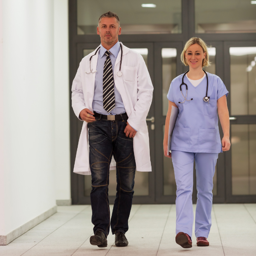
[[[256,195],[256,125],[231,125],[232,194]]]

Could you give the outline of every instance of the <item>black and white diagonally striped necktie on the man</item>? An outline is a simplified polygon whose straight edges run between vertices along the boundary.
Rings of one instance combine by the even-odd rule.
[[[103,108],[109,113],[115,108],[115,93],[110,52],[106,51],[105,53],[107,58],[103,69]]]

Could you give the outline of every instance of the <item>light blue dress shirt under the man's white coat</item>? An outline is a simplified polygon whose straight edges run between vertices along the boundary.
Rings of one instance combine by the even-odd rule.
[[[110,59],[112,64],[112,70],[114,72],[114,67],[116,63],[116,58],[120,50],[120,44],[119,41],[111,48],[109,51],[111,52]],[[114,81],[114,93],[115,93],[115,105],[116,107],[108,113],[103,108],[103,69],[104,69],[104,63],[106,60],[105,52],[107,49],[105,49],[102,45],[99,49],[99,56],[98,56],[98,63],[96,68],[96,76],[95,76],[95,87],[94,87],[94,96],[93,96],[93,111],[96,111],[97,113],[104,114],[104,115],[119,115],[122,113],[125,113],[125,106],[122,102],[122,97],[115,86]]]

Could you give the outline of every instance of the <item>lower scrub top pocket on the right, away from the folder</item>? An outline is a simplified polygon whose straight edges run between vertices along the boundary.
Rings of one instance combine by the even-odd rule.
[[[216,129],[199,129],[198,148],[216,149]]]

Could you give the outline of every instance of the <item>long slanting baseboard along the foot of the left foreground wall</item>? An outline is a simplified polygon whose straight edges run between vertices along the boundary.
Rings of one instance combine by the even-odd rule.
[[[7,245],[17,237],[23,235],[28,230],[32,229],[42,221],[46,220],[50,216],[52,216],[54,213],[57,212],[57,206],[52,207],[48,211],[42,213],[41,215],[33,218],[31,221],[26,222],[20,227],[17,227],[15,230],[12,230],[10,233],[8,233],[6,236],[0,236],[0,245]]]

